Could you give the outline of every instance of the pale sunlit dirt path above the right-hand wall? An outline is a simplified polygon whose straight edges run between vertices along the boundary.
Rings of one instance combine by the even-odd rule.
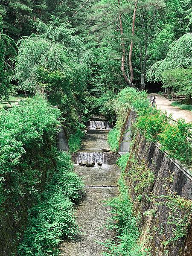
[[[192,111],[182,110],[180,108],[171,106],[172,101],[160,96],[158,94],[152,94],[156,96],[156,105],[158,109],[167,111],[168,114],[172,113],[172,118],[177,120],[178,118],[183,118],[186,122],[192,122]]]

